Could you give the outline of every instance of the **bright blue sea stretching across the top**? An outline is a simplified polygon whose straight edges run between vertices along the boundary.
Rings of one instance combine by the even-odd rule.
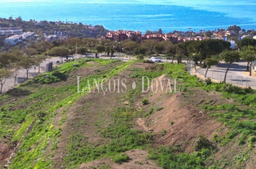
[[[0,17],[103,25],[108,30],[256,30],[256,1],[0,0]],[[191,29],[189,29],[191,28]]]

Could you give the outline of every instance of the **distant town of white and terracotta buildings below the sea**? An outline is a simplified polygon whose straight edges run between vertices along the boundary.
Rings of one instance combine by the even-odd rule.
[[[0,18],[1,19],[1,18]],[[7,19],[3,19],[7,20]],[[16,19],[15,19],[16,20]],[[82,23],[73,23],[71,21],[64,22],[47,22],[47,21],[29,21],[32,22],[33,25],[42,26],[42,25],[78,25],[78,27],[86,28],[86,30],[82,30],[81,32],[87,32],[89,34],[93,34],[96,32],[98,27],[94,27],[92,25],[83,25]],[[1,22],[0,22],[1,26]],[[235,30],[229,30],[232,29]],[[224,29],[215,29],[214,31],[205,31],[200,30],[198,32],[191,31],[191,28],[188,28],[187,32],[184,31],[173,31],[169,33],[163,33],[161,29],[158,31],[146,31],[145,34],[142,34],[142,31],[131,31],[131,30],[106,30],[105,35],[97,35],[98,40],[109,40],[109,41],[124,41],[124,40],[132,40],[136,41],[137,43],[142,43],[143,40],[156,40],[156,41],[172,41],[173,43],[181,43],[185,41],[202,41],[207,39],[218,39],[224,41],[230,41],[231,48],[235,49],[235,43],[237,40],[241,40],[244,37],[253,37],[256,39],[256,35],[254,35],[254,30],[247,30],[241,29],[236,25],[230,26],[228,30]],[[252,36],[253,35],[253,36]],[[36,41],[48,41],[52,42],[54,40],[65,40],[69,36],[74,37],[74,33],[70,33],[70,31],[61,31],[61,30],[52,30],[52,33],[41,32],[41,34],[36,34],[33,31],[23,32],[23,30],[19,27],[9,27],[9,28],[0,28],[0,36],[7,36],[4,39],[5,43],[16,45],[24,40],[29,38],[36,38]]]

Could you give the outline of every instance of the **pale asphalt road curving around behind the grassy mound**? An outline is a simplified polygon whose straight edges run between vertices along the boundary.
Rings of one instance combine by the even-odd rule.
[[[103,53],[99,54],[100,58],[102,59],[110,59],[110,57],[104,57]],[[116,57],[112,57],[112,59],[119,59],[123,61],[129,61],[130,59],[133,60],[135,57],[130,57],[130,56],[124,56],[122,53],[115,53],[114,55],[117,55]],[[75,56],[74,56],[75,57]],[[95,57],[95,54],[88,54],[88,55],[76,55],[76,58],[79,59],[81,57]],[[63,57],[63,62],[65,62],[66,58]],[[69,59],[72,59],[72,56],[69,56]],[[49,62],[53,62],[53,67],[56,67],[59,63],[61,64],[62,60],[59,59],[59,57],[50,57],[50,59],[45,60],[43,63],[40,65],[40,73],[46,71],[46,64]],[[171,62],[172,60],[167,60],[167,62]],[[182,61],[186,62],[186,61]],[[29,69],[28,73],[28,78],[31,79],[38,75],[38,67],[31,67]],[[247,69],[247,62],[246,61],[240,61],[239,63],[233,63],[230,66],[230,69],[227,74],[227,83],[232,83],[237,86],[251,86],[252,88],[256,88],[256,77],[252,76],[247,76],[243,74]],[[217,80],[217,81],[223,81],[224,80],[224,74],[225,70],[227,70],[227,64],[224,62],[221,62],[218,66],[213,66],[208,70],[207,77],[210,77],[211,79]],[[205,68],[199,68],[197,69],[197,73],[201,75],[205,75],[206,69]],[[17,76],[16,79],[16,84],[22,83],[25,81],[27,78],[27,73],[25,69],[20,70],[19,75]],[[9,89],[14,87],[14,78],[8,79],[5,84],[3,85],[2,93],[7,92]]]

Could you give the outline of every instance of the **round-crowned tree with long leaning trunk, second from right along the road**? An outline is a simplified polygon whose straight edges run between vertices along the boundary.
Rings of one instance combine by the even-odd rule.
[[[221,60],[228,64],[227,71],[225,72],[224,82],[226,81],[227,73],[231,63],[238,62],[240,55],[237,51],[224,51],[221,55]]]

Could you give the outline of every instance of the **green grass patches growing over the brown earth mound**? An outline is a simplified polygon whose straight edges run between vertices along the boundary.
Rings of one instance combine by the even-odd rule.
[[[97,62],[104,67],[112,64],[106,70],[95,71],[94,74],[87,75],[81,79],[81,89],[88,86],[87,79],[90,79],[91,90],[93,90],[94,82],[92,79],[99,79],[100,81],[104,78],[109,79],[136,62],[89,59],[78,61],[77,67],[73,67],[73,63],[68,62],[60,65],[58,70],[51,74],[54,77],[50,78],[50,82],[43,79],[44,75],[41,75],[38,79],[28,80],[10,92],[0,95],[1,103],[3,103],[0,106],[1,138],[5,141],[10,138],[11,142],[19,141],[26,132],[27,127],[34,121],[31,131],[23,138],[10,168],[53,168],[52,153],[59,148],[58,140],[62,134],[60,125],[66,120],[64,112],[68,111],[83,95],[86,95],[88,89],[84,93],[77,93],[75,82],[59,87],[51,87],[44,84],[65,81],[70,72],[80,70],[82,67],[93,66],[88,61]],[[209,102],[202,103],[201,108],[209,112],[211,118],[216,118],[218,122],[229,128],[223,137],[218,137],[218,135],[214,134],[213,141],[218,145],[224,146],[233,140],[237,145],[249,144],[252,147],[255,144],[256,134],[255,91],[249,88],[231,87],[224,83],[205,85],[203,81],[200,81],[196,76],[191,76],[183,68],[184,66],[182,65],[166,63],[163,71],[150,72],[135,68],[130,70],[129,75],[137,78],[138,81],[141,81],[142,76],[148,76],[151,81],[157,76],[166,74],[167,77],[172,77],[177,81],[182,79],[182,83],[178,83],[177,88],[180,87],[183,92],[186,92],[187,97],[192,94],[191,88],[197,87],[202,90],[221,92],[223,98],[234,99],[234,105],[221,104],[211,106]],[[69,168],[76,168],[82,163],[103,157],[114,157],[117,161],[120,161],[117,163],[123,163],[125,160],[129,160],[129,157],[123,155],[124,152],[139,148],[148,150],[150,152],[148,158],[155,160],[163,168],[204,168],[206,161],[210,160],[210,155],[214,153],[209,148],[203,148],[191,154],[178,153],[175,146],[153,149],[150,147],[153,145],[154,134],[134,129],[135,118],[142,118],[154,113],[154,110],[160,111],[163,109],[162,107],[151,107],[148,112],[144,112],[143,109],[136,109],[135,99],[141,97],[139,92],[142,88],[140,83],[136,82],[137,84],[136,90],[128,90],[122,98],[129,101],[129,105],[126,105],[127,107],[118,107],[112,111],[104,112],[104,114],[107,113],[111,116],[111,123],[105,124],[103,120],[95,121],[94,127],[97,128],[98,134],[102,139],[107,140],[105,144],[93,144],[88,141],[86,136],[74,133],[69,137],[68,155],[65,155],[63,165]],[[148,87],[147,84],[144,87]],[[11,93],[12,91],[13,93]],[[23,94],[23,98],[13,101],[12,94],[18,92],[26,93],[26,95]],[[85,108],[85,111],[89,113],[89,109]],[[57,115],[62,117],[59,124],[54,126],[54,120]],[[170,125],[173,124],[170,121]],[[76,125],[87,124],[86,121],[81,121]],[[160,135],[164,134],[166,134],[166,131],[163,130]],[[46,152],[46,148],[49,146],[52,153]],[[217,166],[218,164],[212,166],[212,168],[217,168]],[[104,167],[109,168],[109,166],[102,166],[102,168]]]

